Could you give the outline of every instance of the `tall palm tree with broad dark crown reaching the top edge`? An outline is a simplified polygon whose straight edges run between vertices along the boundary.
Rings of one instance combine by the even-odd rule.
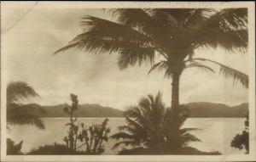
[[[120,70],[143,63],[153,65],[148,74],[165,70],[165,76],[172,77],[172,119],[176,122],[180,75],[185,69],[214,72],[203,63],[217,64],[220,74],[248,87],[248,75],[211,59],[195,58],[195,50],[200,47],[244,53],[248,42],[247,8],[113,8],[107,12],[116,19],[84,17],[84,32],[55,53],[69,48],[116,53]],[[162,60],[155,64],[156,55]]]

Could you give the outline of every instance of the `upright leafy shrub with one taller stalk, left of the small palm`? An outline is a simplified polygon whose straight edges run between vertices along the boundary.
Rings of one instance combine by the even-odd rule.
[[[103,142],[108,142],[110,132],[108,119],[103,120],[102,124],[92,124],[91,126],[85,126],[84,123],[76,124],[77,118],[73,117],[73,113],[79,109],[79,100],[78,96],[74,94],[71,94],[70,98],[72,104],[66,103],[64,107],[64,112],[69,115],[70,119],[70,122],[66,124],[69,126],[67,136],[63,139],[67,148],[73,154],[82,148],[84,148],[85,154],[102,154],[105,150]]]

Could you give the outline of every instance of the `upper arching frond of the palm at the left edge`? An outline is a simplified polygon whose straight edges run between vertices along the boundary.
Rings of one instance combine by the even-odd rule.
[[[38,97],[38,93],[23,81],[13,81],[7,86],[7,103],[17,102],[19,99]]]

